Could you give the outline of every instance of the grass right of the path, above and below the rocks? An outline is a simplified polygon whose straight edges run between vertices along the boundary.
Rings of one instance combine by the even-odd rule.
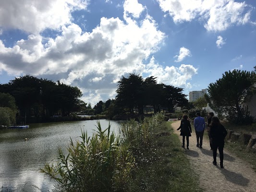
[[[256,133],[256,124],[252,125],[233,125],[228,122],[222,122],[224,127],[228,130],[232,130],[234,132],[239,133]],[[232,142],[230,140],[226,140],[225,148],[230,151],[232,154],[240,157],[244,161],[248,162],[253,166],[253,169],[256,171],[256,150],[254,149],[246,149],[246,145],[241,142]]]

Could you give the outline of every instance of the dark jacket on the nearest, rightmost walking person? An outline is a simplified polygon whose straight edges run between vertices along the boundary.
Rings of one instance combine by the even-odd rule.
[[[225,127],[221,124],[219,125],[210,125],[209,136],[212,142],[214,143],[222,143],[226,135],[228,134]]]

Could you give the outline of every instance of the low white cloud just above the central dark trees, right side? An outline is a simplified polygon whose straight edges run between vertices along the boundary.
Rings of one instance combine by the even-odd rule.
[[[155,63],[154,57],[146,65],[145,71],[149,76],[157,77],[158,83],[171,84],[173,86],[190,88],[191,84],[187,82],[197,73],[193,65],[182,64],[180,67],[163,67]]]

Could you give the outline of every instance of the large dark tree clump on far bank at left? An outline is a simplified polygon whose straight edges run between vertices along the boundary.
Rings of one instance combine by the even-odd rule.
[[[86,106],[79,99],[82,93],[77,87],[30,75],[16,77],[9,84],[0,84],[0,92],[15,98],[20,115],[26,115],[27,120],[31,116],[49,118],[60,113],[68,116]]]

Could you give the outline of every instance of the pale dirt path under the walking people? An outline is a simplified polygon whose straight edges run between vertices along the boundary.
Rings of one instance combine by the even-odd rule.
[[[171,124],[175,133],[180,121]],[[252,166],[240,158],[227,152],[224,148],[224,168],[219,167],[219,152],[217,166],[212,164],[213,157],[210,151],[208,137],[203,140],[203,148],[196,147],[195,130],[189,137],[189,150],[184,149],[190,159],[195,172],[199,175],[200,186],[205,192],[256,192],[256,172]],[[182,136],[180,136],[182,142]],[[186,140],[185,140],[186,146]]]

